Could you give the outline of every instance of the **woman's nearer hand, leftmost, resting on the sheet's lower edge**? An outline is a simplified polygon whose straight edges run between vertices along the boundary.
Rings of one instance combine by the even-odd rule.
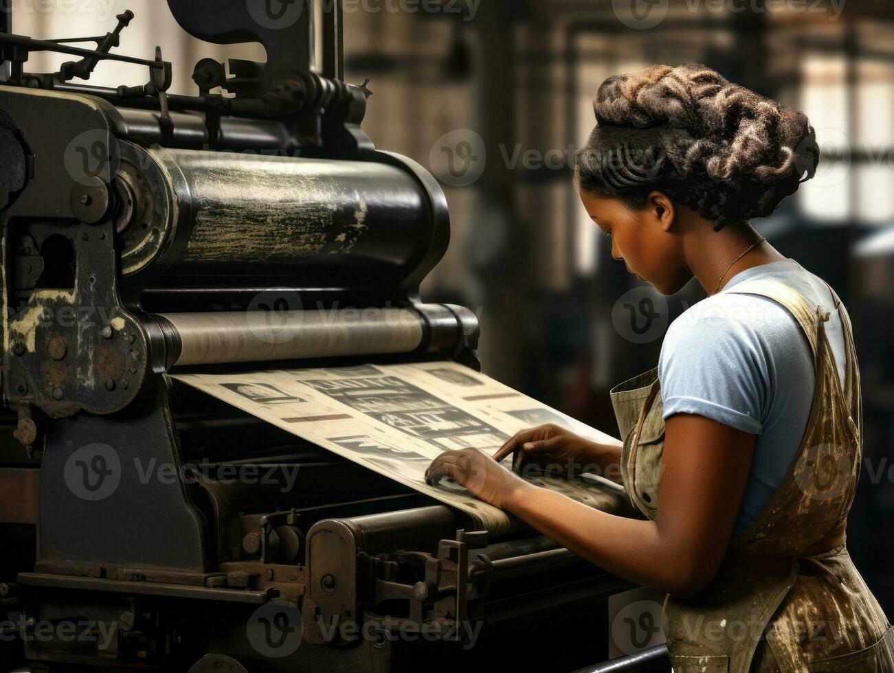
[[[426,482],[434,485],[445,476],[499,509],[507,509],[511,499],[530,485],[483,450],[472,448],[445,451],[434,458],[426,471]]]

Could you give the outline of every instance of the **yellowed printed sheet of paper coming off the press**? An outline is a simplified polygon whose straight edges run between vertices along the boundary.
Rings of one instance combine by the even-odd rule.
[[[493,454],[519,430],[553,423],[595,441],[608,437],[543,403],[453,362],[289,369],[173,378],[467,512],[501,534],[509,518],[445,479],[426,484],[426,468],[444,450]],[[598,486],[549,476],[528,481],[606,511],[625,499]]]

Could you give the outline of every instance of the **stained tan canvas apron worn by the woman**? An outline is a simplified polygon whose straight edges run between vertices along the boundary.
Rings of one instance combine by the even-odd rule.
[[[860,378],[848,315],[842,390],[824,323],[829,313],[780,282],[727,290],[773,299],[795,316],[814,354],[816,388],[804,439],[789,472],[755,521],[734,536],[721,568],[690,599],[668,596],[663,626],[675,673],[894,671],[894,629],[842,543],[862,459]],[[657,369],[611,391],[624,448],[628,497],[657,520],[664,444]],[[830,538],[831,539],[831,538]],[[811,547],[826,549],[805,555]]]

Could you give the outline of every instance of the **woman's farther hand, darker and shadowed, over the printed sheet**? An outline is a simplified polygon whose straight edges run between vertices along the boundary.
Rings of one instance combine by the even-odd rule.
[[[521,474],[526,465],[533,464],[577,476],[584,472],[601,473],[606,452],[617,453],[620,458],[620,447],[598,444],[561,425],[549,424],[516,433],[493,454],[493,459],[501,462],[518,454],[512,467]]]

